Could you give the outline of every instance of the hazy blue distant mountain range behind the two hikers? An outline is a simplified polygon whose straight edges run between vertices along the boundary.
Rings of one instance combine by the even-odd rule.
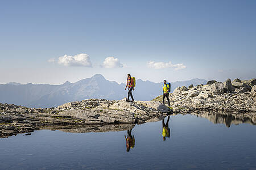
[[[190,84],[206,84],[207,80],[192,79],[171,83],[171,91],[178,86]],[[83,99],[123,99],[127,96],[124,83],[110,82],[104,76],[96,74],[91,78],[82,79],[76,83],[65,82],[60,85],[50,84],[0,84],[0,103],[24,105],[26,107],[56,107],[69,101]],[[162,94],[162,83],[154,83],[138,79],[135,100],[152,100]]]

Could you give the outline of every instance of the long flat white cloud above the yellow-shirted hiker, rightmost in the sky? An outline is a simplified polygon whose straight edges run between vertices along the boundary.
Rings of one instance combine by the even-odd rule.
[[[187,67],[183,63],[177,63],[176,65],[174,65],[174,64],[172,64],[171,61],[169,61],[169,62],[148,61],[147,66],[150,68],[153,68],[153,69],[174,68],[175,70],[185,69]]]

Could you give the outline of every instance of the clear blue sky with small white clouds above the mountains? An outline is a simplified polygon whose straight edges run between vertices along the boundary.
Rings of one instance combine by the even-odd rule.
[[[0,83],[256,75],[256,1],[1,1],[0,20]]]

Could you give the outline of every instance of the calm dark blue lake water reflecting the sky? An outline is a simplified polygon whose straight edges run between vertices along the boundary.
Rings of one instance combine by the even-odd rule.
[[[167,121],[167,118],[166,118]],[[135,147],[126,152],[127,131],[64,133],[40,130],[0,140],[1,168],[255,168],[256,126],[212,124],[191,115],[171,116],[171,137],[162,121],[136,125]]]

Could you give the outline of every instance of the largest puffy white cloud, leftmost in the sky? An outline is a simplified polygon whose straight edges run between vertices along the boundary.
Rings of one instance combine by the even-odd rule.
[[[64,66],[92,67],[90,57],[85,53],[77,54],[75,56],[61,56],[58,59],[58,63]]]

